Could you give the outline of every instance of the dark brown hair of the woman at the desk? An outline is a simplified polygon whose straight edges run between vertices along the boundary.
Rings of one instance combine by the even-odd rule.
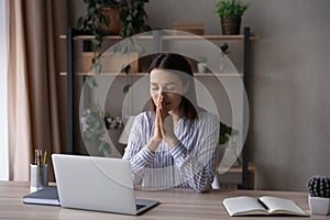
[[[179,77],[183,85],[189,84],[189,87],[183,96],[179,108],[183,110],[184,117],[187,118],[190,122],[198,118],[197,102],[196,102],[196,91],[195,91],[195,82],[194,82],[194,74],[188,61],[179,55],[179,54],[169,54],[162,53],[157,55],[150,68],[148,74],[154,69],[164,69],[170,72]],[[156,106],[154,101],[152,101],[153,110],[156,110]]]

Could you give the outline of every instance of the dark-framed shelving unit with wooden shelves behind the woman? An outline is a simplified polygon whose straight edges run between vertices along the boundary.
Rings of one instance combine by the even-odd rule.
[[[66,41],[67,44],[67,72],[61,73],[62,76],[67,77],[67,153],[75,153],[74,146],[76,145],[75,140],[75,84],[74,84],[74,76],[75,75],[87,75],[87,73],[78,73],[74,69],[75,64],[75,57],[74,57],[74,48],[75,48],[75,41],[90,41],[94,38],[92,35],[88,35],[81,31],[75,30],[75,29],[68,29],[67,35],[61,35],[61,38]],[[243,41],[243,73],[240,73],[239,76],[243,78],[243,84],[245,86],[246,92],[249,91],[249,74],[250,74],[250,47],[251,47],[251,41],[258,40],[258,35],[251,35],[250,28],[244,28],[244,34],[242,35],[200,35],[200,36],[191,36],[191,35],[170,35],[170,36],[160,36],[160,35],[142,35],[139,36],[141,40],[147,40],[153,42],[154,52],[158,53],[161,47],[161,40],[162,41],[174,41],[174,40],[199,40],[205,38],[209,41]],[[121,41],[121,36],[113,36],[109,35],[105,37],[106,41]],[[114,74],[114,73],[102,73],[105,76],[125,76],[124,74]],[[131,74],[131,76],[144,76],[145,73],[134,73]],[[238,76],[237,74],[233,75],[231,73],[196,73],[196,77],[208,77],[208,76]],[[249,92],[248,92],[249,97]],[[243,107],[245,108],[248,103],[244,103]],[[246,109],[243,109],[243,112],[245,112]],[[248,124],[248,119],[243,118],[243,124]],[[242,150],[242,157],[243,157],[243,164],[242,164],[242,188],[248,188],[249,183],[249,146],[244,144],[244,147]]]

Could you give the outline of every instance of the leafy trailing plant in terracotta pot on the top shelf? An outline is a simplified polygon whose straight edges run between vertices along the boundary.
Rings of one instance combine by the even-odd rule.
[[[145,23],[147,14],[144,10],[144,4],[148,0],[84,0],[84,2],[87,4],[87,13],[78,18],[77,28],[95,35],[92,64],[100,56],[98,52],[102,47],[106,34],[119,34],[124,38],[151,30]],[[120,24],[116,24],[118,22]]]

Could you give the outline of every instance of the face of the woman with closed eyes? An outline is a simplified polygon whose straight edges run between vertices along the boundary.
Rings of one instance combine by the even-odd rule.
[[[163,96],[165,110],[170,114],[180,112],[179,105],[186,90],[187,86],[170,72],[154,68],[150,74],[150,91],[154,103],[157,107],[157,100]]]

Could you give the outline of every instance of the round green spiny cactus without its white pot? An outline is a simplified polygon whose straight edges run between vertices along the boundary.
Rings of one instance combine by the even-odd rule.
[[[330,179],[326,176],[312,176],[308,180],[308,190],[312,197],[330,198]]]

